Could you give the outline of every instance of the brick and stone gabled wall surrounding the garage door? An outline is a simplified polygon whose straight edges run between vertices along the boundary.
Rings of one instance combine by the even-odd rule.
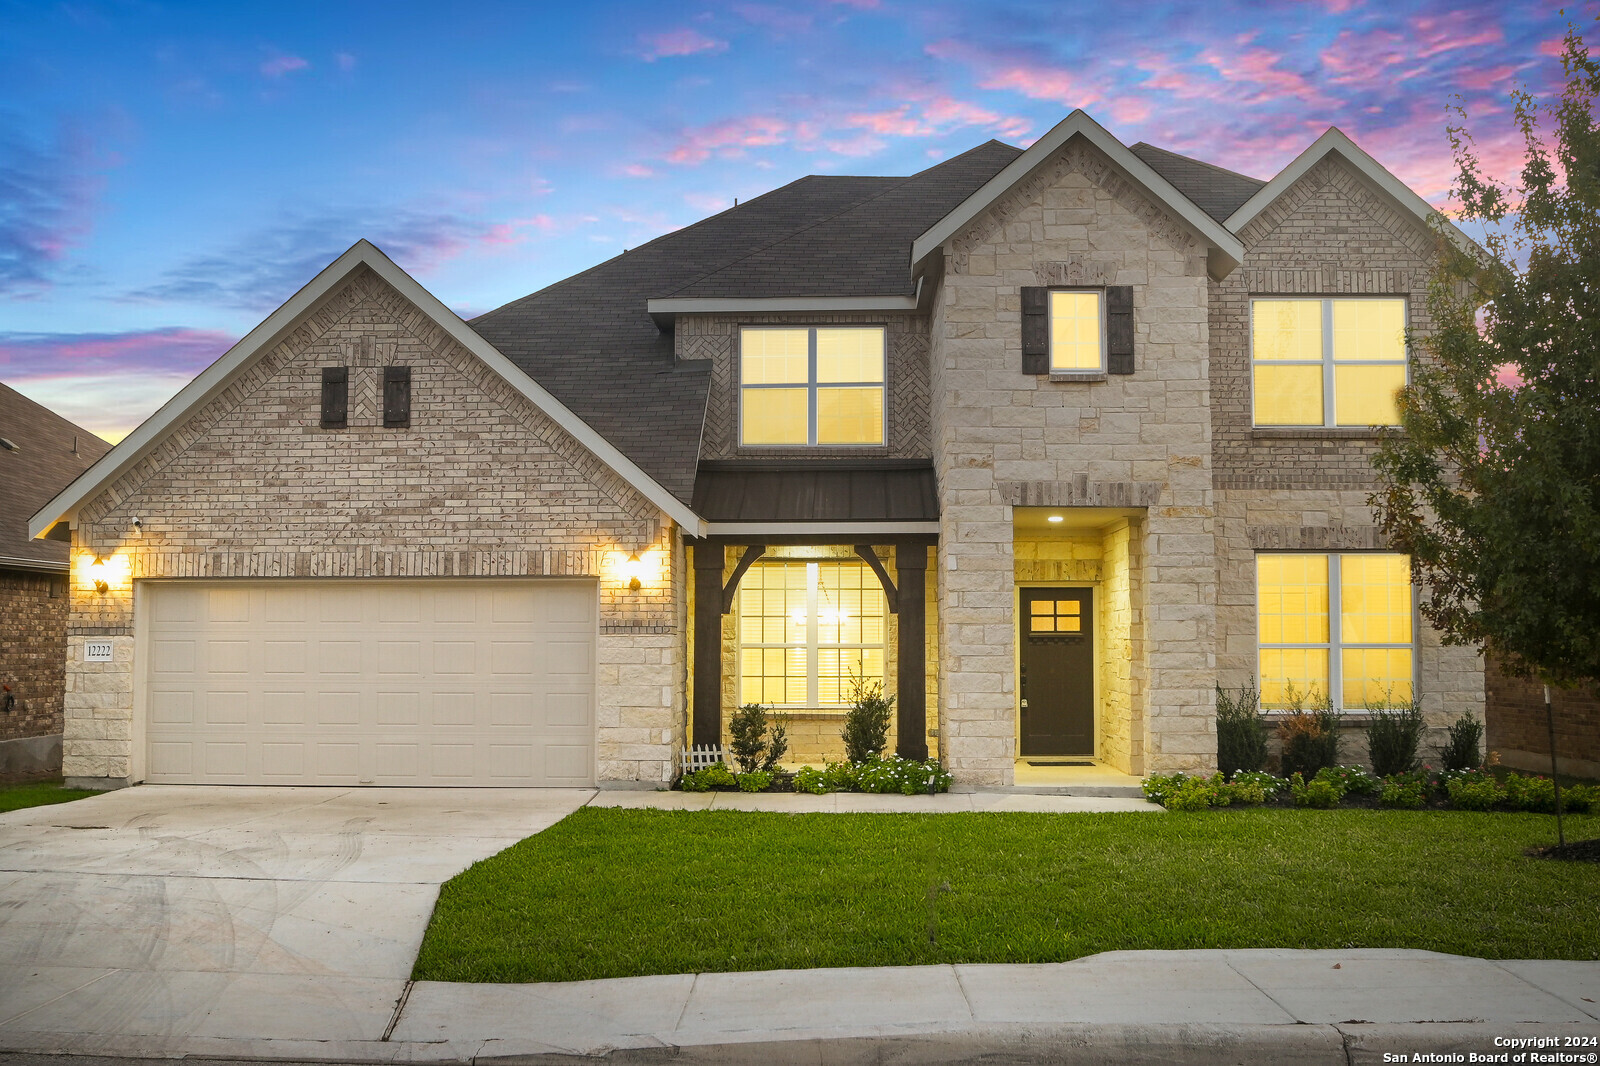
[[[347,429],[320,427],[320,367],[350,367]],[[382,367],[411,367],[384,429]],[[142,535],[134,535],[134,515]],[[632,551],[659,579],[630,592]],[[594,576],[598,778],[662,781],[683,744],[682,551],[656,507],[365,267],[149,456],[85,503],[74,560],[64,773],[136,773],[141,578]],[[83,663],[109,637],[114,661]]]

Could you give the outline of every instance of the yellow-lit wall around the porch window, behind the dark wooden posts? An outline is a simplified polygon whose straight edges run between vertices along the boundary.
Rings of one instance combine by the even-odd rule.
[[[690,549],[693,551],[693,549]],[[894,578],[894,546],[878,544],[874,547],[878,560],[890,571],[890,578]],[[723,584],[733,576],[733,568],[738,565],[738,549],[728,549],[726,563],[723,567]],[[768,559],[781,560],[824,560],[824,559],[840,559],[840,560],[858,560],[853,547],[845,546],[818,546],[818,547],[773,547],[766,555]],[[936,575],[933,567],[926,570],[926,587],[925,597],[931,605],[934,602],[936,592]],[[693,583],[688,587],[688,607],[690,618],[693,618],[694,610],[694,589]],[[738,608],[728,611],[722,618],[722,722],[723,722],[723,744],[726,746],[731,739],[728,733],[728,723],[733,720],[733,712],[739,709],[739,629],[738,629]],[[888,632],[885,639],[885,677],[883,691],[898,696],[899,695],[899,616],[888,616]],[[694,661],[694,632],[693,627],[688,629],[688,661]],[[925,615],[925,632],[923,632],[923,655],[926,663],[926,706],[928,714],[928,755],[938,757],[939,752],[939,735],[934,725],[933,707],[938,706],[938,674],[939,674],[939,637],[938,637],[938,619],[930,610]],[[690,682],[693,693],[693,680]],[[784,755],[784,763],[813,763],[819,765],[824,762],[840,762],[845,757],[845,743],[840,736],[840,730],[845,727],[843,711],[781,711],[789,719],[789,754]],[[899,727],[896,717],[890,717],[890,735],[886,752],[893,752],[896,743],[899,741]]]

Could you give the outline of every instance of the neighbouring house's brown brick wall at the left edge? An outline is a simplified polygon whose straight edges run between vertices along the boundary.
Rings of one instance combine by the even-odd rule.
[[[0,741],[61,731],[66,655],[67,575],[0,570],[0,683],[16,698]]]

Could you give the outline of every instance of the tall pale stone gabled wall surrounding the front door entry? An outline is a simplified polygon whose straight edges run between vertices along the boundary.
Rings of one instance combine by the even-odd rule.
[[[1214,765],[1205,248],[1072,141],[944,256],[931,386],[946,765],[966,786],[1013,781],[1019,504],[1147,509],[1144,632],[1131,639],[1146,650],[1144,770]],[[1051,283],[1133,287],[1134,375],[1066,383],[1021,371],[1021,290]]]

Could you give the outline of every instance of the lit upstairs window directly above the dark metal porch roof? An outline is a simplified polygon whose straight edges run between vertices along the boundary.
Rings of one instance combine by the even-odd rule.
[[[882,445],[883,327],[739,331],[739,443]]]

